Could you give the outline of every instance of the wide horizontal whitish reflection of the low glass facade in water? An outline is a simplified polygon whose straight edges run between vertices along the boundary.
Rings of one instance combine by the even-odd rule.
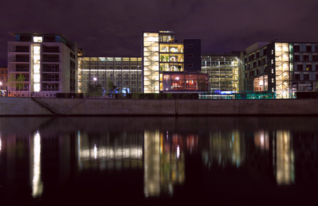
[[[142,134],[78,133],[79,165],[81,170],[124,170],[142,168]]]

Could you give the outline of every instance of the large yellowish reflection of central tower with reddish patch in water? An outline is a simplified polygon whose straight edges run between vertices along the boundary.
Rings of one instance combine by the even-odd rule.
[[[182,185],[187,176],[185,153],[192,155],[198,152],[198,135],[168,131],[146,131],[144,134],[145,196],[173,196],[174,187]],[[198,164],[201,165],[201,162]]]

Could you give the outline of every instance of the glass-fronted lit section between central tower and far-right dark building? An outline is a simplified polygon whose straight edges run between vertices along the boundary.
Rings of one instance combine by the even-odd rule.
[[[209,92],[215,95],[239,93],[239,52],[203,54],[201,73],[209,74]]]

